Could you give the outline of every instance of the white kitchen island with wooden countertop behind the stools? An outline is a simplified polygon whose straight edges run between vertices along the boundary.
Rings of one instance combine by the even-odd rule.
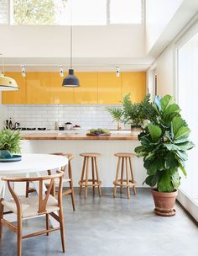
[[[133,136],[130,131],[114,131],[110,136],[86,136],[86,132],[78,131],[24,131],[22,136],[23,153],[73,153],[75,158],[72,161],[72,171],[75,186],[78,186],[81,178],[81,152],[101,153],[98,165],[102,186],[112,187],[117,168],[117,157],[114,157],[114,153],[134,152],[134,148],[139,145],[138,137]],[[137,186],[141,187],[145,178],[142,159],[133,159],[133,173]]]

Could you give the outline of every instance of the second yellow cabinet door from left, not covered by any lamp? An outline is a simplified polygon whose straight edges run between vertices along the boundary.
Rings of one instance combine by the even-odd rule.
[[[27,104],[50,104],[50,72],[28,72]]]

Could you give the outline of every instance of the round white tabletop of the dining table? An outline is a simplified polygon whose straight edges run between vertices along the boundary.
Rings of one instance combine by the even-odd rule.
[[[0,163],[0,176],[24,173],[37,173],[67,165],[68,159],[51,154],[23,154],[22,160],[13,163]]]

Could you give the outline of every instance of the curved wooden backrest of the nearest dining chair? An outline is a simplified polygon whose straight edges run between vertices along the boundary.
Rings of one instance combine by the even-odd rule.
[[[40,176],[40,177],[30,177],[30,178],[10,178],[10,177],[3,177],[2,180],[8,183],[8,189],[13,196],[13,200],[17,205],[17,209],[21,212],[21,204],[20,199],[13,189],[11,183],[15,182],[39,182],[39,209],[38,214],[44,214],[46,212],[46,206],[49,200],[50,191],[55,184],[55,179],[59,179],[59,187],[58,187],[58,205],[62,204],[62,187],[63,187],[63,175],[64,172],[57,171],[56,174],[49,175],[49,176]],[[48,189],[44,193],[44,180],[50,180],[50,185]]]

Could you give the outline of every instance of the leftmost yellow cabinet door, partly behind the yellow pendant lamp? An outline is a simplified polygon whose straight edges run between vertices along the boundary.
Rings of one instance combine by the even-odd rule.
[[[26,79],[21,72],[6,72],[5,76],[12,77],[18,84],[17,91],[3,92],[3,104],[25,104],[26,101]]]

